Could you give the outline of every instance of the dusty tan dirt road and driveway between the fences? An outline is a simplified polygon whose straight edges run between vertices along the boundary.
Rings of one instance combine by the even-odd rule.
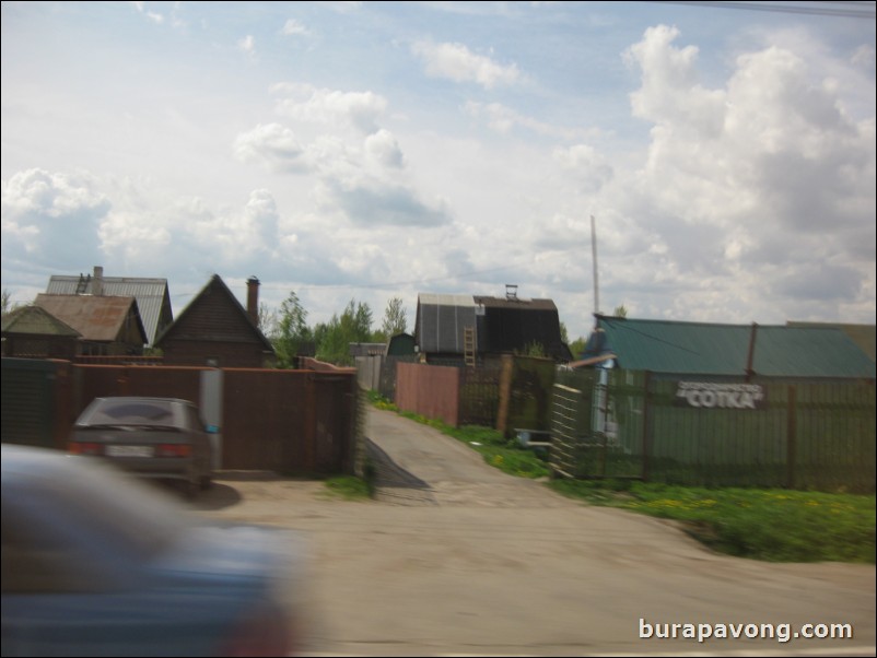
[[[227,472],[197,503],[208,516],[300,531],[306,655],[875,653],[872,565],[715,555],[671,524],[566,500],[428,426],[369,414],[377,500]],[[794,638],[805,624],[832,623],[850,624],[853,639]],[[657,638],[664,624],[756,624],[773,637],[747,638],[756,626],[739,626],[738,639],[700,643],[679,626],[676,639]]]

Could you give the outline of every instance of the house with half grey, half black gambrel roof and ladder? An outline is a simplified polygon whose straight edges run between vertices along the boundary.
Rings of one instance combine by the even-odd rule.
[[[551,299],[528,299],[507,285],[505,297],[421,293],[414,337],[422,359],[466,361],[539,351],[571,361]]]

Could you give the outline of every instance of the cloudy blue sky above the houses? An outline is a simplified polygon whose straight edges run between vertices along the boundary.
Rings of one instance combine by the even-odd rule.
[[[4,1],[2,289],[875,324],[875,3],[756,4]]]

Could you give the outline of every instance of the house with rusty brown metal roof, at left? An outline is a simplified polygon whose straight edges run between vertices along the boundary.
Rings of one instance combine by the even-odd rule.
[[[34,304],[79,331],[79,353],[82,355],[118,356],[143,353],[147,331],[133,297],[40,293]]]

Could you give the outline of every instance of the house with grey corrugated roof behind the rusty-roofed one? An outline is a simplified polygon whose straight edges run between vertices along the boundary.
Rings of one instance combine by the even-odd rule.
[[[135,277],[105,277],[104,268],[94,268],[94,274],[68,277],[54,274],[49,279],[46,293],[50,295],[112,295],[133,297],[140,309],[147,343],[153,345],[156,337],[174,321],[171,309],[171,294],[166,279],[143,279]]]

